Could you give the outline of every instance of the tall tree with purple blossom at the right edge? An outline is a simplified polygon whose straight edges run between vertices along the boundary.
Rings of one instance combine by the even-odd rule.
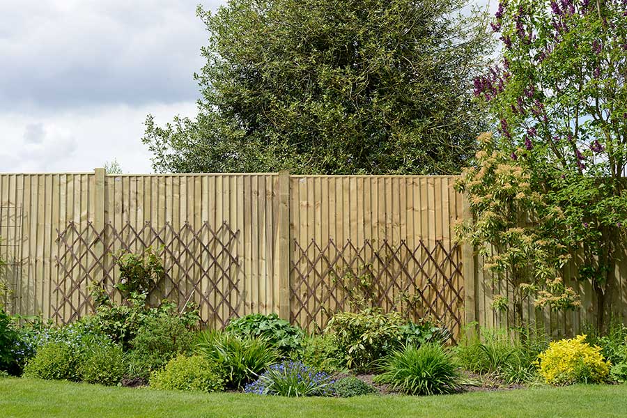
[[[491,26],[502,61],[474,93],[564,211],[556,233],[582,254],[602,325],[627,222],[627,0],[502,0]]]

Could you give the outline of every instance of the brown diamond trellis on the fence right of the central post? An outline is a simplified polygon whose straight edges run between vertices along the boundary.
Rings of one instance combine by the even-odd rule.
[[[396,310],[412,320],[430,318],[448,327],[454,338],[459,335],[464,295],[458,245],[448,248],[440,240],[432,247],[422,240],[417,247],[405,240],[320,245],[311,240],[303,247],[295,240],[294,247],[291,320],[302,327],[320,329],[334,313],[359,309],[352,302],[355,293],[362,293],[361,306]]]

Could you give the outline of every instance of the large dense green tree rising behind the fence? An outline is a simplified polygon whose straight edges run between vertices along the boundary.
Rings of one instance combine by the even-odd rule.
[[[157,171],[456,173],[491,47],[467,0],[231,0],[212,14],[199,114],[146,122]],[[463,12],[463,13],[462,13]]]

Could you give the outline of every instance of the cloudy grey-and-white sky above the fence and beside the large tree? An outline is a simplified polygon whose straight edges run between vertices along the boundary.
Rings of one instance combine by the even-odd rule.
[[[146,115],[196,113],[199,1],[0,0],[0,171],[152,172]]]

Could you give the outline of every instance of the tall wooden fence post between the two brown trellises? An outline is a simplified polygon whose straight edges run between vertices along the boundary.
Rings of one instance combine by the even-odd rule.
[[[279,317],[290,320],[290,172],[279,172],[279,222],[277,268],[279,279]]]

